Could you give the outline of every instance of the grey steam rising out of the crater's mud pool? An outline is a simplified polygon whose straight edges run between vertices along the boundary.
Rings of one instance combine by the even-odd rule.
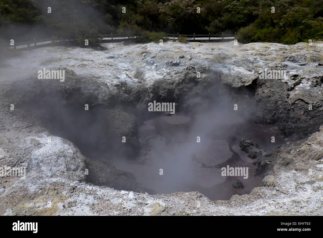
[[[39,70],[39,66],[37,68]],[[240,157],[244,152],[239,150],[240,139],[249,136],[252,128],[247,123],[250,118],[245,110],[247,105],[230,100],[230,90],[218,88],[214,95],[196,98],[183,95],[181,99],[187,109],[181,110],[181,105],[177,105],[173,115],[148,111],[147,102],[144,108],[146,119],[142,121],[139,119],[142,116],[139,111],[142,110],[137,111],[136,107],[125,109],[126,105],[121,103],[120,110],[110,110],[108,106],[94,106],[96,99],[83,95],[84,92],[62,90],[65,93],[58,94],[54,84],[62,84],[63,87],[73,84],[68,74],[65,75],[67,80],[59,82],[59,79],[36,79],[37,70],[33,72],[35,80],[10,82],[10,98],[26,95],[26,101],[19,105],[19,110],[33,118],[33,123],[47,126],[53,135],[73,142],[86,157],[104,159],[116,168],[131,172],[143,187],[156,193],[200,191],[216,200],[229,199],[236,193],[248,193],[261,184],[261,178],[249,176],[242,179],[245,189],[237,191],[221,175],[222,165],[253,167],[250,161]],[[39,88],[40,82],[46,93],[31,96],[32,89]],[[83,88],[88,84],[85,80],[81,82],[84,83],[80,85]],[[84,109],[84,102],[90,105],[89,111]],[[234,110],[234,104],[238,110]],[[128,135],[127,142],[122,143],[124,135],[120,131],[105,130],[113,121],[119,121],[119,128],[133,123],[122,118],[122,111],[137,117],[139,154],[127,151],[131,141]],[[113,120],[107,120],[107,112]],[[113,128],[116,129],[114,124]],[[270,133],[261,136],[268,138],[270,143]],[[250,169],[249,173],[252,173]]]

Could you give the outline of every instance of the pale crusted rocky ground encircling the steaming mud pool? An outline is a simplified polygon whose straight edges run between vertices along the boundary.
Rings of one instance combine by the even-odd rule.
[[[24,52],[19,68],[15,59],[8,59],[0,80],[0,164],[26,166],[27,175],[0,178],[1,215],[323,214],[322,42],[312,47],[251,43],[234,48],[231,42],[105,46],[108,50],[100,54],[82,49],[86,54],[80,55],[78,48],[63,47]],[[30,58],[35,59],[32,65]],[[65,70],[65,82],[37,79],[44,67]],[[286,82],[260,79],[259,71],[266,67],[287,70]],[[304,138],[259,155],[259,146],[245,140],[245,151],[256,160],[254,175],[266,175],[264,187],[228,201],[211,202],[198,192],[149,195],[103,187],[145,191],[130,173],[86,159],[68,138],[45,128],[46,121],[56,121],[67,134],[71,125],[85,130],[73,130],[72,139],[91,131],[125,135],[128,153],[140,154],[135,118],[148,118],[149,101],[176,102],[176,111],[190,112],[194,105],[206,110],[223,96],[237,102],[241,117],[275,124],[284,136],[299,133]],[[85,104],[92,111],[85,111]],[[80,112],[94,113],[103,127],[78,122]],[[95,176],[87,177],[86,168]]]

